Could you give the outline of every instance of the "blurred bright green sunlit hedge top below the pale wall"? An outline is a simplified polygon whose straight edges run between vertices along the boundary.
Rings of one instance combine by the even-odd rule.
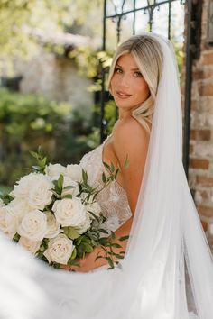
[[[32,132],[53,133],[66,121],[71,106],[49,101],[42,96],[23,96],[0,90],[0,124],[13,141],[29,137]]]

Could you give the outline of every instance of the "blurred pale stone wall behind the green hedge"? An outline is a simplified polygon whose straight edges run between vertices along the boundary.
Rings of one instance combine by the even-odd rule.
[[[14,72],[23,76],[20,89],[24,94],[38,93],[56,101],[68,101],[83,112],[93,104],[93,95],[88,92],[91,81],[79,75],[73,60],[41,49],[29,61],[16,59]]]

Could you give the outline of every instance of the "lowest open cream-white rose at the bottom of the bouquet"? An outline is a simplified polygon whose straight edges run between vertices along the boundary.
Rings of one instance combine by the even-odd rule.
[[[54,261],[66,265],[74,248],[73,242],[64,234],[60,234],[50,240],[48,249],[44,251],[43,255],[49,263]]]

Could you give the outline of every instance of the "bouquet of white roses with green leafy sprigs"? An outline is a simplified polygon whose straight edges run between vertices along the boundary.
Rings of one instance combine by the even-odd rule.
[[[105,255],[98,252],[96,260],[104,258],[108,269],[114,269],[113,256],[123,259],[125,251],[115,253],[114,248],[122,246],[114,242],[115,232],[104,227],[106,216],[96,197],[116,178],[118,169],[104,163],[108,174],[102,173],[103,186],[92,187],[80,165],[51,164],[41,148],[31,154],[37,165],[15,183],[12,192],[1,195],[0,230],[54,268],[79,266],[77,259],[100,246]]]

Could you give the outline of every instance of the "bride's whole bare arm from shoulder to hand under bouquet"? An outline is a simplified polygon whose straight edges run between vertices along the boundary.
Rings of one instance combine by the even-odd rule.
[[[126,249],[127,241],[119,242],[118,238],[129,235],[131,230],[137,198],[144,174],[148,143],[149,135],[134,118],[120,120],[119,123],[116,124],[113,131],[113,146],[121,168],[119,174],[122,175],[122,179],[125,182],[125,191],[133,216],[116,230],[116,239],[114,242],[119,243],[122,248],[114,248],[115,252],[125,251]],[[129,162],[127,168],[125,167],[126,158]],[[100,247],[97,247],[83,260],[79,260],[81,267],[72,266],[71,269],[85,272],[106,265],[107,261],[104,259],[95,261],[99,251],[101,251],[101,249]],[[104,253],[102,253],[102,255],[103,254]],[[116,261],[117,259],[114,257],[113,260]]]

